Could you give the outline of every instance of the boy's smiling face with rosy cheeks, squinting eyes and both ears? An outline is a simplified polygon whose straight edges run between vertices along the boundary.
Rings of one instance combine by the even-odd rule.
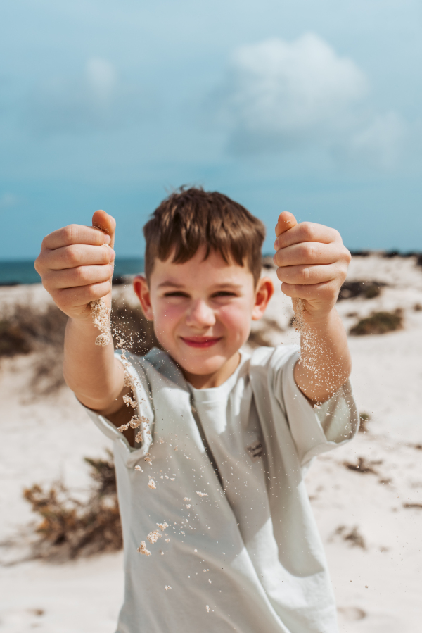
[[[156,259],[151,280],[136,277],[134,289],[146,318],[154,321],[162,347],[193,387],[217,387],[238,364],[251,320],[264,314],[274,288],[261,279],[255,288],[246,266],[226,264],[205,248],[185,263]]]

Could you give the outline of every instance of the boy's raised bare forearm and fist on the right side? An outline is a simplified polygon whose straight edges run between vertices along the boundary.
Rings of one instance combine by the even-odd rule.
[[[277,277],[293,300],[300,329],[295,382],[312,404],[322,403],[347,381],[352,368],[347,335],[335,303],[350,252],[338,231],[304,222],[283,211],[276,225]]]

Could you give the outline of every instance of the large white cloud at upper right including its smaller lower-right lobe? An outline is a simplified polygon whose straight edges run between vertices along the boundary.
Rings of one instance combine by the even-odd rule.
[[[218,95],[233,153],[322,148],[390,168],[405,137],[399,115],[371,113],[369,82],[317,35],[241,46]]]

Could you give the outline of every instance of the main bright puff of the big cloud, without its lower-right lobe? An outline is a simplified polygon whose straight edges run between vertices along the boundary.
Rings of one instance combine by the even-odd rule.
[[[350,126],[367,81],[316,35],[242,46],[231,62],[222,112],[236,151],[290,147]]]

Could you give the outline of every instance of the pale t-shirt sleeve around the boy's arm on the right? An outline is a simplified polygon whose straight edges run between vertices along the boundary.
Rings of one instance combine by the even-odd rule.
[[[287,350],[286,350],[287,351]],[[283,353],[274,380],[274,395],[286,415],[302,466],[315,456],[342,446],[359,430],[359,415],[350,382],[320,406],[312,406],[295,382],[298,347]]]

